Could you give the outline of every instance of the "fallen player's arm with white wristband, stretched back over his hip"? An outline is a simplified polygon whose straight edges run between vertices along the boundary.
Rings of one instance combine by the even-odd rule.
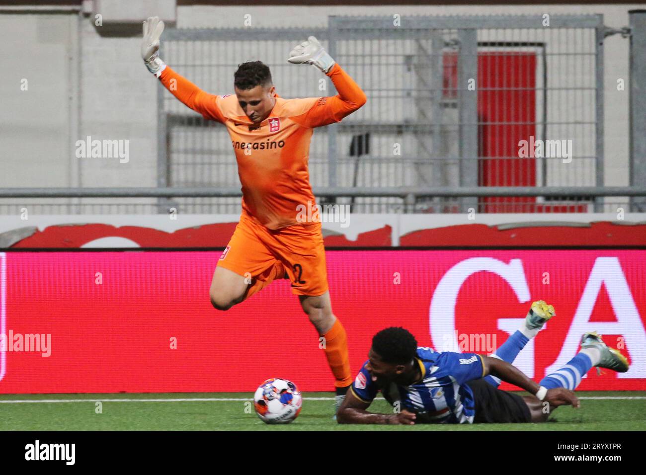
[[[574,392],[566,388],[553,388],[547,390],[546,388],[543,388],[543,386],[539,386],[538,383],[529,379],[523,372],[516,368],[516,366],[512,366],[512,364],[509,364],[506,361],[488,356],[483,356],[482,359],[485,369],[485,374],[483,374],[483,376],[491,374],[495,377],[499,377],[503,381],[514,386],[518,386],[519,388],[523,388],[528,393],[534,394],[534,396],[541,399],[541,401],[547,401],[550,405],[555,407],[563,405],[579,407],[581,405]]]

